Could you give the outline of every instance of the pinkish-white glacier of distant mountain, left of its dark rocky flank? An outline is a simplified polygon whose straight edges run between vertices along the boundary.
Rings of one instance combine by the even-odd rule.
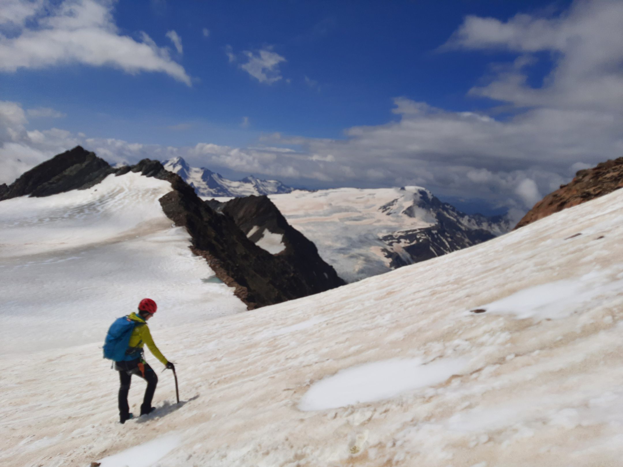
[[[432,198],[430,191],[418,186],[293,191],[269,197],[288,223],[315,243],[323,260],[341,278],[354,282],[392,269],[384,250],[412,262],[411,255],[403,250],[412,240],[389,245],[381,238],[437,224],[430,210],[417,206],[424,194]],[[457,222],[469,229],[477,227],[468,216],[457,217]],[[499,227],[492,227],[492,232],[502,234]]]

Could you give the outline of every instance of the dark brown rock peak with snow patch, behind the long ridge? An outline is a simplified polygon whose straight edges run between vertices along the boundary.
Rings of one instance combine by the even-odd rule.
[[[335,269],[322,260],[316,245],[288,224],[267,196],[234,198],[225,203],[210,200],[207,203],[231,217],[245,235],[251,234],[249,240],[254,243],[266,234],[280,236],[283,250],[272,256],[283,263],[285,270],[300,270],[307,295],[345,285]]]

